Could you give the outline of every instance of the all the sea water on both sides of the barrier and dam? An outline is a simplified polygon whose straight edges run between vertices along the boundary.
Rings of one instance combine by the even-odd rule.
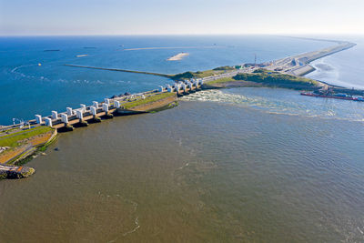
[[[328,38],[332,38],[328,36]],[[364,89],[364,37],[309,77]],[[172,84],[160,76],[335,45],[274,35],[0,37],[0,124]],[[167,61],[185,52],[180,61]],[[364,104],[280,88],[202,91],[176,108],[60,134],[0,181],[0,242],[363,242]],[[57,148],[57,149],[56,149]]]

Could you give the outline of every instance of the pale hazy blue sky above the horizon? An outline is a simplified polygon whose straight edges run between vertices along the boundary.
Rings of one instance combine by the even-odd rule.
[[[0,0],[0,35],[364,35],[364,0]]]

